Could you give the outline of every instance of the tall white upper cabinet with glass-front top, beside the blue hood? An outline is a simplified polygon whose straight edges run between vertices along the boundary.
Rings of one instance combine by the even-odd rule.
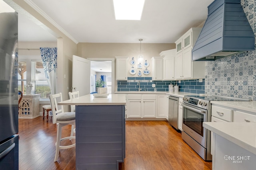
[[[192,48],[202,28],[189,29],[176,43],[175,76],[180,79],[205,78],[205,61],[192,61]]]

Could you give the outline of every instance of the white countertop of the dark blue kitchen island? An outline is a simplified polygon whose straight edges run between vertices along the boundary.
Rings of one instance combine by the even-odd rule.
[[[59,105],[125,105],[125,94],[109,94],[106,98],[95,98],[92,94],[65,100]]]

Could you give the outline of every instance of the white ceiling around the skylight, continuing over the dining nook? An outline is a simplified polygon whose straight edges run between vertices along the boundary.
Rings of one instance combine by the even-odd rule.
[[[50,17],[77,43],[174,43],[206,20],[213,0],[145,0],[140,21],[115,20],[112,0],[25,0]],[[131,11],[132,12],[132,11]],[[19,41],[56,37],[19,15]]]

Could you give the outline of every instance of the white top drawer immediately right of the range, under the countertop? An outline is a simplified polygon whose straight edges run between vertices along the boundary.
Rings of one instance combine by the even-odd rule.
[[[222,107],[212,106],[212,116],[223,119],[225,121],[232,121],[233,110]]]

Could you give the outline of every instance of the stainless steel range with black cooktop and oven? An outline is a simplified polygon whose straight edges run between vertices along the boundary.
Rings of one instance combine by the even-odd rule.
[[[184,96],[182,139],[204,160],[212,160],[210,154],[211,133],[203,127],[204,121],[211,121],[210,101],[250,101],[226,96]]]

